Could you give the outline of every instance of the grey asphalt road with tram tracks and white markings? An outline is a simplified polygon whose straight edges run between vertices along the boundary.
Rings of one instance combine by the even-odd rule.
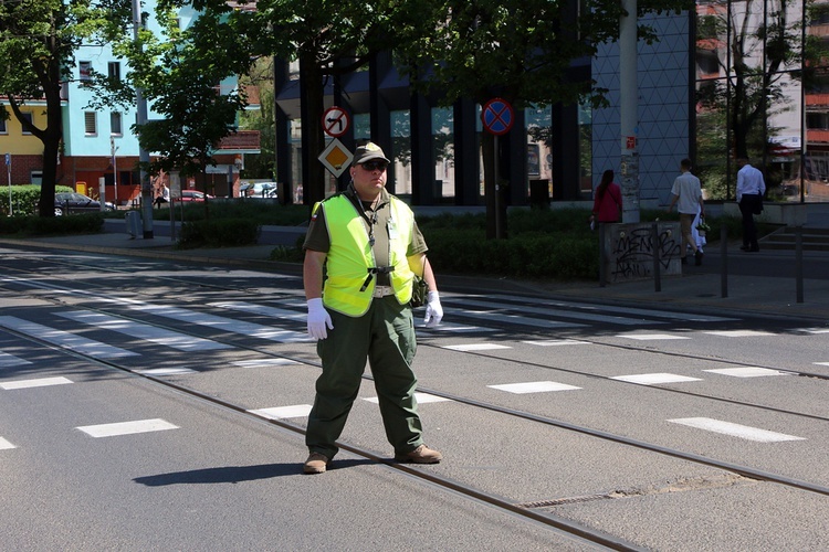
[[[414,368],[445,460],[389,463],[367,379],[333,469],[303,476],[297,276],[2,256],[4,548],[597,548],[563,526],[622,549],[829,544],[826,323],[444,293]]]

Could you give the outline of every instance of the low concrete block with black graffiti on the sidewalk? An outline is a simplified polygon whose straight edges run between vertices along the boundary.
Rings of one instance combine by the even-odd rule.
[[[660,223],[653,240],[652,224],[619,224],[609,236],[608,274],[612,282],[650,278],[658,259],[660,272],[679,274],[679,223]]]

